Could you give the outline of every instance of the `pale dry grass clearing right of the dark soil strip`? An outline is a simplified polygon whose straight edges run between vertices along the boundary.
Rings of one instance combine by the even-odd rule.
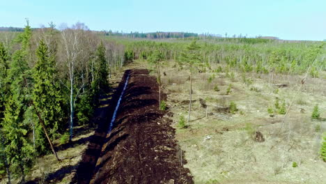
[[[189,100],[189,74],[168,66],[162,72],[166,72],[162,79],[168,93],[167,103],[176,122],[176,139],[185,151],[185,167],[192,172],[195,183],[326,181],[325,162],[318,157],[320,135],[326,130],[326,121],[312,121],[310,118],[316,103],[319,104],[321,116],[326,118],[325,79],[306,80],[304,90],[290,108],[279,131],[284,115],[274,113],[274,117],[270,117],[267,108],[274,107],[276,97],[285,100],[288,107],[300,86],[300,76],[274,76],[274,84],[288,84],[287,87],[278,88],[270,84],[269,75],[247,74],[250,82],[245,84],[241,74],[236,72],[233,80],[224,73],[215,74],[210,83],[208,78],[212,72],[196,74],[193,79],[193,100],[196,102],[192,108],[192,121],[189,128],[180,129],[177,126],[178,118],[187,114],[187,103],[182,101]],[[171,85],[166,82],[168,80],[175,80],[176,84]],[[214,84],[220,91],[214,91]],[[232,92],[226,95],[228,84],[232,84]],[[219,113],[229,116],[227,121],[211,118],[210,115],[206,117],[205,109],[199,105],[199,98],[206,100],[208,114],[216,114],[217,106],[226,107],[231,101],[236,103],[239,111],[236,114]],[[250,128],[246,125],[250,125]],[[318,131],[316,127],[319,127]],[[265,141],[254,141],[251,135],[253,131],[262,132]],[[292,167],[293,162],[297,162],[298,167]]]

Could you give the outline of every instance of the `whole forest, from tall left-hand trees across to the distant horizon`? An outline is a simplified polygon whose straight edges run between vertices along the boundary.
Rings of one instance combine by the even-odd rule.
[[[0,32],[0,174],[9,182],[24,182],[42,155],[60,161],[53,141],[71,141],[76,125],[93,126],[88,122],[99,96],[110,90],[111,75],[134,60],[155,63],[160,86],[160,65],[172,61],[189,71],[190,81],[208,70],[244,78],[249,73],[326,78],[321,41],[123,34],[91,31],[79,22],[59,30],[54,24],[31,29],[27,21],[24,31],[11,31]],[[212,68],[215,64],[219,67]]]

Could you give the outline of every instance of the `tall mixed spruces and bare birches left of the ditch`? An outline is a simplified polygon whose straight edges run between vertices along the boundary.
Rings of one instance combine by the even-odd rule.
[[[125,63],[124,46],[77,23],[54,24],[0,42],[0,174],[24,182],[39,155],[57,155],[53,141],[87,125],[109,76]]]

